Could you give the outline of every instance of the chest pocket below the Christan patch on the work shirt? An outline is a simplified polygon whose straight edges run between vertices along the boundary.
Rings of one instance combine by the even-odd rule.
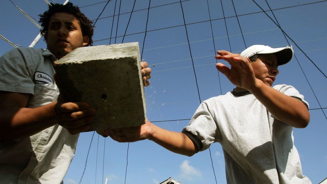
[[[35,84],[34,96],[29,98],[26,107],[35,108],[57,101],[59,90],[55,84]]]

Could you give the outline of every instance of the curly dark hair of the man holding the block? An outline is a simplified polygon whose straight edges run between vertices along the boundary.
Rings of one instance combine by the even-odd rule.
[[[43,14],[40,14],[40,23],[43,29],[40,30],[41,35],[43,36],[45,33],[48,32],[49,28],[49,22],[50,18],[53,14],[57,12],[66,12],[69,14],[74,15],[79,21],[79,25],[82,30],[83,36],[88,36],[89,37],[89,43],[87,46],[92,46],[93,40],[93,26],[92,26],[92,21],[88,19],[80,10],[77,6],[74,6],[73,3],[67,3],[66,5],[61,5],[61,4],[53,4],[51,3],[49,5],[49,9],[45,11]]]

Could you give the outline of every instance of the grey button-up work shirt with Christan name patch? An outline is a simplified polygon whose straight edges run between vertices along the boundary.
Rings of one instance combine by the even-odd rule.
[[[0,57],[0,91],[31,94],[28,108],[57,101],[54,60],[47,49],[15,48],[5,53]],[[33,136],[0,143],[0,183],[61,183],[78,135],[56,124]]]

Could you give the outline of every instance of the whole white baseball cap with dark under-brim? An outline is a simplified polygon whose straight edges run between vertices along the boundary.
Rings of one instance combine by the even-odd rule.
[[[245,49],[241,53],[241,56],[250,58],[255,54],[272,54],[272,53],[276,55],[277,64],[282,65],[291,61],[293,57],[293,48],[292,46],[271,48],[270,46],[265,46],[265,45],[253,45]]]

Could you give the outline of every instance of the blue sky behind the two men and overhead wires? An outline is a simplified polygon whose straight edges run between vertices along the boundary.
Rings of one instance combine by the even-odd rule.
[[[265,0],[255,1],[273,17]],[[12,0],[12,2],[35,19],[47,9],[47,4],[43,0]],[[99,16],[107,3],[103,0],[70,2],[79,6],[91,20]],[[113,20],[115,2],[112,0],[108,3],[95,24],[94,46],[122,42],[134,1],[122,0],[118,28],[120,0],[117,0]],[[327,2],[318,0],[267,0],[267,2],[283,30],[326,75]],[[148,0],[136,2],[124,38],[124,43],[139,42],[141,51],[148,3]],[[222,5],[223,9],[220,0],[208,0],[208,3],[205,0],[182,1],[195,66],[194,73],[179,1],[151,1],[143,61],[147,61],[152,69],[151,84],[145,88],[147,118],[152,122],[163,121],[155,122],[156,125],[180,132],[189,122],[184,119],[192,117],[200,100],[226,94],[233,89],[234,86],[225,76],[218,74],[215,68],[215,50],[224,49],[240,53],[246,46],[255,44],[271,47],[287,45],[282,31],[252,0],[233,2],[222,0]],[[39,28],[26,19],[9,0],[0,1],[0,12],[0,34],[15,44],[29,46],[39,33]],[[226,26],[231,45],[228,42]],[[290,63],[279,67],[280,73],[274,84],[285,83],[294,86],[310,104],[310,123],[304,129],[294,128],[294,142],[300,153],[303,174],[308,176],[312,183],[319,183],[327,177],[327,120],[323,114],[323,111],[327,114],[327,79],[292,41],[289,42],[294,48],[297,60],[293,57]],[[43,40],[35,46],[45,47]],[[0,40],[0,55],[12,48]],[[319,108],[323,108],[323,111]],[[80,134],[76,155],[64,178],[65,184],[79,183],[92,135],[93,132]],[[129,144],[128,165],[127,148],[128,143],[118,143],[111,138],[98,137],[95,134],[81,183],[100,184],[105,182],[106,177],[109,184],[124,183],[125,173],[126,183],[133,184],[158,184],[169,177],[184,184],[211,184],[215,183],[215,177],[217,183],[226,183],[224,156],[219,143],[211,145],[211,157],[209,150],[187,157],[169,152],[149,140],[133,142]]]

